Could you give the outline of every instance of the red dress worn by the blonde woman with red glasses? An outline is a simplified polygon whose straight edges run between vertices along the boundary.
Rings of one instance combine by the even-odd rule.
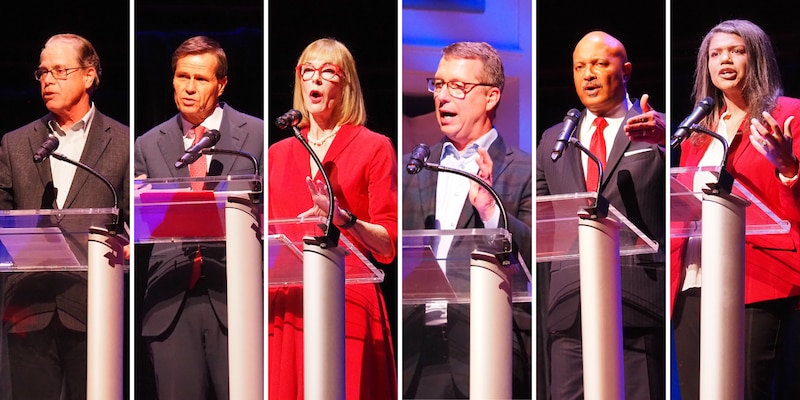
[[[303,135],[308,134],[307,130]],[[295,137],[270,146],[269,218],[294,218],[313,205],[305,178],[310,156]],[[344,125],[322,160],[334,196],[358,219],[386,228],[397,248],[397,155],[391,141],[362,126]],[[317,173],[314,180],[321,179]],[[342,230],[362,253],[350,232]],[[380,263],[391,257],[373,255]],[[346,267],[347,268],[347,267]],[[267,277],[269,279],[269,276]],[[269,290],[270,399],[303,398],[302,288]],[[347,399],[395,399],[397,373],[383,294],[377,284],[345,287]]]

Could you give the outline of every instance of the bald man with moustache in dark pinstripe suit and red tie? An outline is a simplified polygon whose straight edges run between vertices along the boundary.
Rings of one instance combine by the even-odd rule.
[[[664,117],[647,104],[631,101],[627,83],[631,63],[625,48],[604,32],[590,32],[575,47],[573,78],[586,109],[575,135],[588,144],[604,118],[602,136],[607,160],[603,181],[587,187],[586,156],[568,147],[553,162],[551,152],[563,124],[544,132],[536,151],[536,194],[598,191],[633,224],[658,242],[659,251],[620,259],[625,391],[629,399],[664,397],[664,246],[665,151]],[[602,129],[601,129],[602,130]],[[589,147],[589,146],[587,146]],[[593,152],[594,153],[594,152]],[[597,155],[597,154],[596,154]],[[589,163],[592,161],[589,160]],[[588,184],[593,185],[593,184]],[[547,328],[553,399],[583,395],[579,263],[549,266]]]

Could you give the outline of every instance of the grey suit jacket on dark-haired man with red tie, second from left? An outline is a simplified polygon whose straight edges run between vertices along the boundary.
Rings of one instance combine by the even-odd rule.
[[[224,113],[217,149],[248,153],[259,160],[263,174],[264,121],[236,111],[220,103]],[[188,177],[189,168],[175,168],[185,150],[180,115],[138,137],[134,146],[134,175],[150,178]],[[245,157],[214,154],[209,175],[252,175],[253,163]],[[143,301],[142,335],[164,333],[178,315],[191,274],[196,244],[154,245],[150,256],[147,288]],[[206,277],[211,304],[223,326],[228,324],[226,307],[225,243],[203,243],[203,274]]]

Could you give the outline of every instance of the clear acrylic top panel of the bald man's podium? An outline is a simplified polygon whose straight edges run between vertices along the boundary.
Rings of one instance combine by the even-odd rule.
[[[597,193],[579,192],[536,196],[536,261],[577,260],[578,214],[589,207]],[[620,223],[619,255],[649,254],[658,251],[658,243],[650,239],[613,205],[608,217]]]

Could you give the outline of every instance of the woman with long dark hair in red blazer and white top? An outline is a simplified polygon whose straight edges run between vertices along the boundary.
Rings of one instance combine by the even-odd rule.
[[[702,125],[727,138],[727,169],[791,229],[747,236],[745,247],[745,398],[770,398],[775,357],[800,295],[800,100],[782,96],[769,37],[746,20],[711,29],[697,56],[693,95],[715,106]],[[722,146],[694,133],[681,145],[681,166],[720,165]],[[684,400],[699,395],[699,240],[672,241],[671,283],[676,357]],[[722,254],[722,257],[725,255]]]

